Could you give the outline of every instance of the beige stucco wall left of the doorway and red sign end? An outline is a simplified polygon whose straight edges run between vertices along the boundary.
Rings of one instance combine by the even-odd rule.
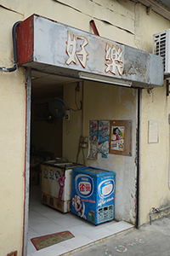
[[[0,67],[13,67],[11,26],[22,18],[0,8]],[[0,254],[21,255],[25,185],[25,72],[0,73]]]

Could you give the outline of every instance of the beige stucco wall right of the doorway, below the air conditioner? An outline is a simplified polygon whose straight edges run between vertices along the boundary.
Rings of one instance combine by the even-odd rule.
[[[151,94],[146,90],[142,94],[141,119],[141,223],[149,222],[152,207],[170,206],[170,189],[168,186],[169,163],[169,99],[166,88],[154,89]],[[149,120],[159,124],[158,143],[148,143]],[[162,214],[167,211],[161,212]],[[152,218],[158,216],[152,215]]]

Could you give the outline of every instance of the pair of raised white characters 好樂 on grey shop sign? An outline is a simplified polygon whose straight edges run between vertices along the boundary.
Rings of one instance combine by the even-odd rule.
[[[95,50],[94,44],[99,45]],[[123,45],[121,44],[114,42],[111,44],[108,43],[108,41],[100,44],[99,40],[95,41],[94,38],[90,38],[89,42],[86,36],[67,31],[65,51],[68,58],[65,63],[68,66],[76,64],[77,68],[79,64],[90,72],[94,70],[105,75],[108,74],[111,76],[112,74],[113,76],[122,76],[124,65],[123,49]]]

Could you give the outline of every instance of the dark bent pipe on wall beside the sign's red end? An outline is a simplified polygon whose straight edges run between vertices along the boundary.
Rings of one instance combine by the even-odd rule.
[[[22,21],[17,21],[14,26],[13,26],[13,50],[14,50],[14,67],[0,67],[0,71],[3,72],[14,72],[17,67],[18,67],[18,56],[17,56],[17,45],[16,45],[16,28],[19,26],[20,22]]]

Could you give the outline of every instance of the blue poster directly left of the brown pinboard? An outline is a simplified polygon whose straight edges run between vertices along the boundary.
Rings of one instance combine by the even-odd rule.
[[[99,143],[110,141],[110,121],[99,121]]]

